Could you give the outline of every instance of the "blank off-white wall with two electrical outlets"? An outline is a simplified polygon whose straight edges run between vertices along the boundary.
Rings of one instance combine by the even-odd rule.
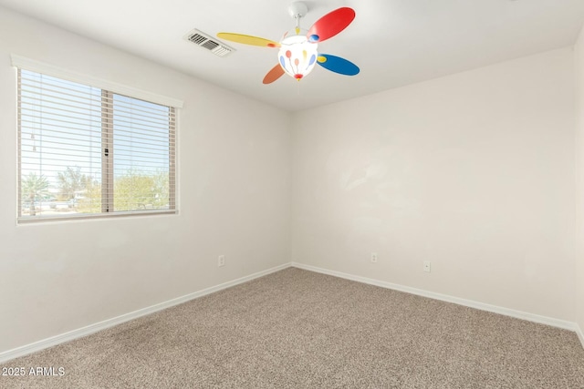
[[[573,94],[565,48],[295,114],[292,261],[573,322]]]

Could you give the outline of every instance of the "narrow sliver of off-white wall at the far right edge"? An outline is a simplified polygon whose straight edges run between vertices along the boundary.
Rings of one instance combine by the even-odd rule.
[[[576,166],[577,166],[577,256],[576,322],[584,345],[584,29],[575,46],[576,70]]]

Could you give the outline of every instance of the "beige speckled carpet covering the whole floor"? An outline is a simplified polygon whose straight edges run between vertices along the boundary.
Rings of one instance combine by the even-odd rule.
[[[0,387],[584,388],[575,333],[295,268],[3,365],[49,366]]]

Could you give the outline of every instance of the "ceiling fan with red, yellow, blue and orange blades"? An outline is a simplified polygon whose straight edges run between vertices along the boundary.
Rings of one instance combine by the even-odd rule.
[[[246,36],[234,33],[219,33],[217,37],[245,45],[279,48],[278,64],[267,72],[264,84],[271,84],[285,73],[298,81],[306,77],[316,64],[332,72],[345,76],[355,76],[360,69],[355,64],[339,56],[320,54],[318,43],[336,36],[355,18],[355,11],[349,7],[338,8],[304,30],[300,28],[300,19],[307,15],[308,7],[302,2],[292,3],[288,14],[296,19],[296,28],[287,31],[278,43],[258,36]]]

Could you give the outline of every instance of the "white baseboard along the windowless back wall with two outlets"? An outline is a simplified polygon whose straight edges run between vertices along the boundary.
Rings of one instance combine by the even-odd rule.
[[[346,280],[368,283],[370,285],[381,286],[382,288],[392,289],[394,291],[417,294],[419,296],[429,297],[431,299],[440,300],[443,302],[453,302],[455,304],[464,305],[466,307],[475,308],[475,309],[478,309],[481,311],[499,313],[499,314],[503,314],[506,316],[515,317],[517,319],[527,320],[529,322],[538,322],[541,324],[550,325],[552,327],[558,327],[558,328],[562,328],[565,330],[574,331],[574,332],[579,334],[580,342],[582,342],[582,346],[584,346],[584,340],[583,340],[584,338],[582,336],[582,332],[579,331],[578,324],[576,324],[575,322],[567,322],[564,320],[554,319],[554,318],[547,317],[547,316],[540,316],[540,315],[535,314],[535,313],[516,311],[516,310],[509,309],[509,308],[499,307],[496,305],[485,304],[484,302],[474,302],[472,300],[465,300],[465,299],[461,299],[458,297],[449,296],[447,294],[423,291],[422,289],[411,288],[409,286],[403,286],[403,285],[400,285],[397,283],[373,280],[370,278],[360,277],[357,275],[352,275],[352,274],[348,274],[348,273],[344,273],[344,272],[340,272],[340,271],[330,271],[328,269],[322,269],[322,268],[318,268],[316,266],[305,265],[305,264],[297,263],[297,262],[292,262],[292,266],[294,266],[298,269],[304,269],[307,271],[316,271],[319,273],[328,274],[328,275],[332,275],[332,276],[339,277],[339,278],[344,278]]]

